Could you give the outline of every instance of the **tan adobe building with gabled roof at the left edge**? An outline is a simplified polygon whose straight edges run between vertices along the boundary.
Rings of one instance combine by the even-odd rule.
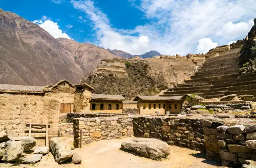
[[[67,80],[46,87],[0,84],[0,131],[40,139],[38,132],[46,131],[46,126],[38,131],[30,124],[48,124],[49,138],[56,136],[60,114],[89,110],[93,90],[86,83],[73,85]]]

